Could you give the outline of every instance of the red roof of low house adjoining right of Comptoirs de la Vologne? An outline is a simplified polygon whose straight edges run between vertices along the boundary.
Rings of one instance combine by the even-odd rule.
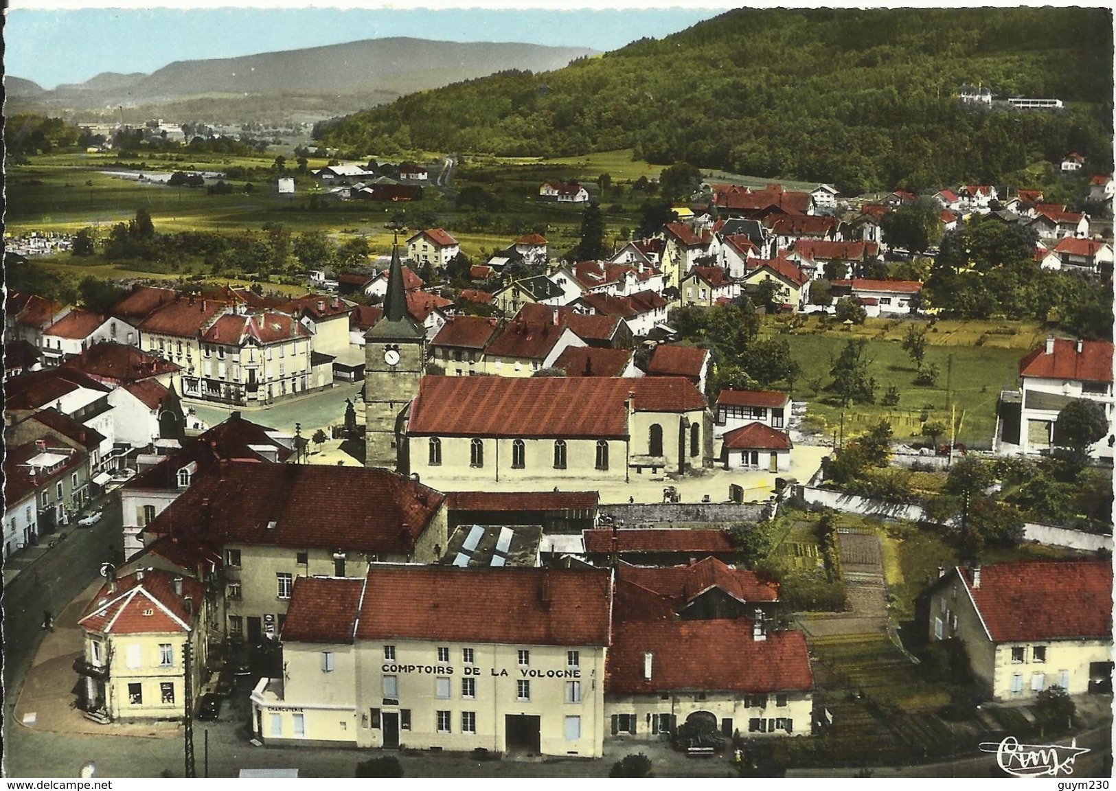
[[[644,678],[647,653],[650,681]],[[619,624],[605,668],[605,693],[610,695],[675,689],[761,694],[808,692],[814,686],[806,636],[775,631],[756,640],[747,618]]]

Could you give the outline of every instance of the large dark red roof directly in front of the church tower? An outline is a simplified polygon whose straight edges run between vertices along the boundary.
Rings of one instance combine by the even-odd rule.
[[[146,530],[213,543],[410,554],[443,500],[375,467],[227,462],[195,480]]]

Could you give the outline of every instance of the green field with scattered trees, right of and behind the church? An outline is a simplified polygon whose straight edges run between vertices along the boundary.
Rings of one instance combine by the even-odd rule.
[[[941,373],[934,387],[924,387],[913,384],[915,366],[901,347],[907,326],[901,321],[869,319],[849,329],[821,329],[811,319],[797,331],[779,335],[790,344],[791,354],[802,368],[792,395],[798,401],[809,402],[810,427],[827,435],[839,434],[844,413],[847,438],[865,431],[869,423],[886,417],[895,438],[911,442],[921,438],[918,432],[924,411],[931,419],[949,423],[952,406],[960,422],[958,440],[974,447],[990,446],[1000,390],[1016,387],[1020,357],[1040,344],[1043,334],[1037,326],[939,321],[927,336],[930,344],[924,365],[936,364]],[[779,327],[786,325],[781,321],[764,325],[769,332],[779,331]],[[876,379],[877,403],[843,408],[825,387],[831,380],[833,360],[853,338],[868,340],[868,372]],[[820,388],[816,389],[819,384]],[[879,405],[892,384],[899,392],[898,405]]]

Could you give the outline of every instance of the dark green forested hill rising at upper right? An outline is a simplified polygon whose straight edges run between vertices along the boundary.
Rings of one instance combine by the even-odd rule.
[[[962,84],[1056,97],[980,113]],[[995,183],[1069,151],[1112,168],[1107,9],[730,11],[549,74],[502,73],[321,126],[345,151],[575,155],[837,182],[845,193]]]

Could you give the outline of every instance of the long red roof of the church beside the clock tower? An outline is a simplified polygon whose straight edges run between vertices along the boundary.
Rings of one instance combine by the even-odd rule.
[[[654,377],[518,378],[424,376],[411,406],[407,433],[419,436],[616,437],[627,436],[624,407],[636,412],[689,412],[705,399],[689,379]],[[461,405],[468,404],[468,409]]]

